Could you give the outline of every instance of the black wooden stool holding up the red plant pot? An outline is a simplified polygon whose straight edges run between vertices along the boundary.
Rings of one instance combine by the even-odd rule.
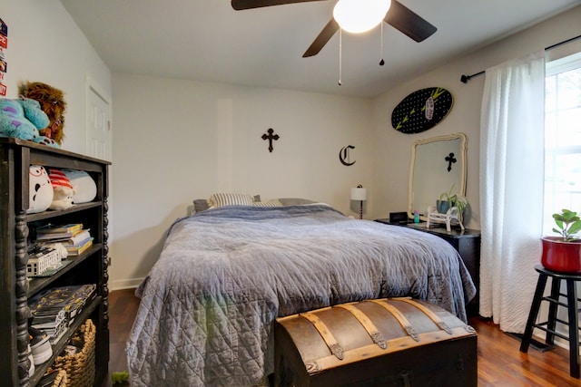
[[[520,351],[526,353],[528,345],[530,344],[533,335],[533,329],[538,328],[547,332],[545,341],[547,344],[555,343],[555,336],[558,336],[569,342],[569,373],[572,377],[579,379],[579,310],[577,309],[577,289],[576,281],[581,281],[581,275],[556,273],[547,270],[545,267],[537,265],[535,270],[540,274],[537,282],[537,290],[535,290],[535,297],[533,298],[533,305],[530,306],[530,313],[528,314],[527,328],[523,334],[522,343],[520,343]],[[553,278],[551,284],[551,295],[544,297],[545,285],[547,285],[547,278]],[[560,291],[561,280],[566,281],[566,295]],[[566,303],[559,302],[559,297],[566,297]],[[548,307],[548,321],[536,324],[538,310],[541,301],[547,301]],[[567,309],[569,322],[556,318],[556,311],[558,306],[564,306]],[[567,324],[569,327],[569,336],[559,334],[556,332],[556,323]]]

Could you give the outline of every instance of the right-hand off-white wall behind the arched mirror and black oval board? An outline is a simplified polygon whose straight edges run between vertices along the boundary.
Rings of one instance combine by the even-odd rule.
[[[512,35],[497,44],[491,44],[475,53],[450,61],[430,73],[395,86],[377,98],[373,104],[375,202],[371,217],[386,218],[390,211],[405,211],[408,208],[410,152],[415,140],[462,131],[468,136],[467,197],[472,209],[467,226],[479,229],[479,127],[485,77],[482,75],[468,83],[462,83],[460,76],[478,73],[488,67],[543,50],[579,34],[581,34],[581,6]],[[429,131],[419,134],[402,134],[393,130],[390,124],[393,108],[410,92],[432,86],[443,87],[452,93],[454,106],[448,117]]]

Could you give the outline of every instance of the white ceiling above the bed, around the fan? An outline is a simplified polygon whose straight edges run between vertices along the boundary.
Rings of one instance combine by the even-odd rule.
[[[230,0],[61,0],[113,73],[377,96],[579,0],[399,0],[438,27],[416,43],[383,24],[302,58],[335,0],[234,11]],[[458,79],[461,74],[458,74]]]

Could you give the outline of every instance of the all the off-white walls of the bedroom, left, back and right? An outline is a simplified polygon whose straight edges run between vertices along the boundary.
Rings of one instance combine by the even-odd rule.
[[[463,131],[468,135],[468,191],[479,228],[478,146],[484,78],[478,73],[581,34],[581,6],[525,32],[404,82],[376,100],[252,89],[114,74],[94,52],[58,0],[0,0],[9,28],[8,98],[19,82],[40,81],[65,92],[63,148],[84,153],[84,88],[91,76],[113,95],[113,186],[110,206],[111,287],[136,285],[153,265],[164,233],[193,198],[216,190],[263,198],[315,198],[357,215],[349,189],[369,188],[365,218],[385,218],[408,206],[411,144]],[[112,86],[113,85],[113,86]],[[441,86],[455,98],[446,120],[420,134],[391,129],[398,102],[420,88]],[[262,133],[281,135],[269,153]],[[354,145],[352,167],[338,160]]]

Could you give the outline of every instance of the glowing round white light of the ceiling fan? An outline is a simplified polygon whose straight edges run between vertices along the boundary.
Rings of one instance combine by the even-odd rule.
[[[364,33],[377,26],[389,11],[391,0],[339,0],[333,17],[348,33]]]

